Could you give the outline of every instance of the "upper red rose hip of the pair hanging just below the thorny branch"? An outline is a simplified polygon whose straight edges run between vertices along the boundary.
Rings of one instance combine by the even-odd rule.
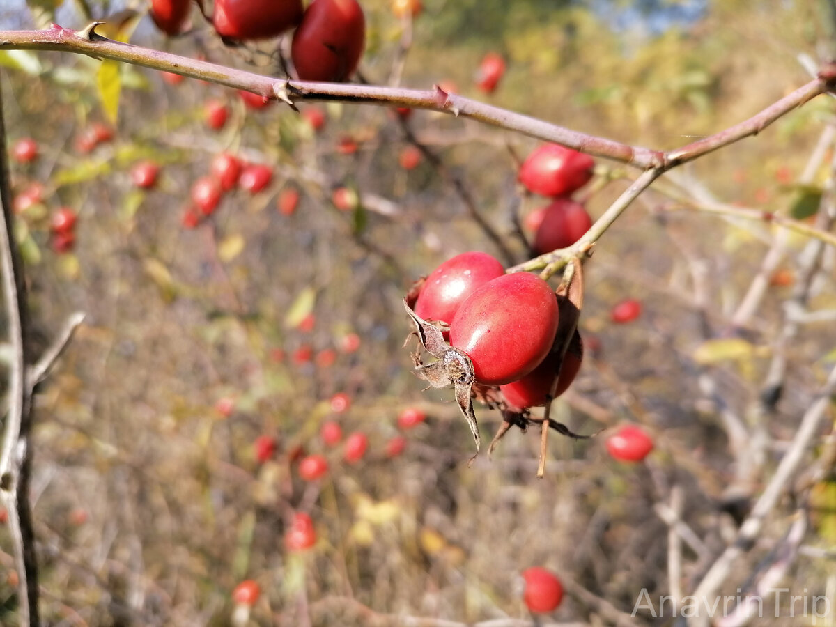
[[[535,194],[563,196],[586,185],[595,165],[592,157],[558,144],[534,150],[520,166],[519,181]]]

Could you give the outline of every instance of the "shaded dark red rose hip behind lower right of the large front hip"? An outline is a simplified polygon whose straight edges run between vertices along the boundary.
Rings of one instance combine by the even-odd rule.
[[[555,377],[558,379],[558,385],[554,390],[553,398],[562,395],[568,390],[569,385],[572,385],[583,360],[584,344],[576,331],[572,343],[569,344],[563,356],[563,364],[560,365],[559,371],[558,352],[553,350],[528,375],[506,385],[500,385],[499,390],[507,404],[518,410],[545,405],[548,395],[552,393]]]

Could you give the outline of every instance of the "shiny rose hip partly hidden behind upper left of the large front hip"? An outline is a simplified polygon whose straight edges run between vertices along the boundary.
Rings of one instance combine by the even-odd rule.
[[[505,274],[487,252],[462,252],[433,270],[415,300],[415,314],[450,324],[461,303],[477,288]]]

